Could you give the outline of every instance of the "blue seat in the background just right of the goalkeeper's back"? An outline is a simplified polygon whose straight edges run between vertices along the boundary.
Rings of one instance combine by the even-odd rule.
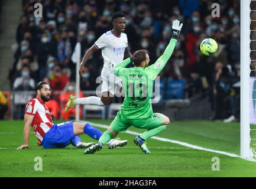
[[[184,89],[184,80],[168,80],[166,99],[183,99]]]

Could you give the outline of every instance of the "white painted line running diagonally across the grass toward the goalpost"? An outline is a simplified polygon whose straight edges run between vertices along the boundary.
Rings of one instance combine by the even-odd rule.
[[[85,121],[83,121],[83,122],[85,122]],[[105,128],[105,129],[108,128],[108,125],[102,125],[102,124],[99,124],[99,123],[92,123],[92,122],[85,122],[85,123],[90,123],[91,125],[97,126],[99,128]],[[133,132],[133,131],[126,131],[125,133],[129,133],[131,135],[140,135],[140,133]],[[240,158],[240,156],[237,155],[237,154],[232,154],[232,153],[229,153],[229,152],[223,152],[223,151],[218,151],[218,150],[209,149],[209,148],[203,148],[201,146],[188,144],[186,142],[174,141],[174,140],[170,140],[170,139],[167,139],[167,138],[161,138],[161,137],[157,137],[157,136],[153,136],[151,138],[155,139],[157,141],[171,142],[173,144],[178,144],[178,145],[186,146],[186,147],[193,148],[193,149],[199,149],[199,150],[202,150],[202,151],[213,152],[213,153],[216,153],[216,154],[228,155],[229,157]]]

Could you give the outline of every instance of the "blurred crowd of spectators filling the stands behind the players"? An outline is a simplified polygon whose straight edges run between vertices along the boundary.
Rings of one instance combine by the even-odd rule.
[[[34,17],[34,4],[43,4],[43,18]],[[221,17],[213,18],[212,4],[221,6]],[[239,80],[239,1],[175,0],[22,0],[23,14],[17,26],[17,51],[9,73],[12,90],[34,90],[40,80],[50,83],[53,93],[74,91],[75,64],[71,60],[76,42],[82,44],[82,56],[106,31],[112,30],[111,15],[126,15],[125,33],[131,53],[144,48],[153,63],[171,38],[171,23],[184,23],[173,56],[160,74],[162,82],[182,81],[187,97],[208,91],[212,119],[239,118],[236,109]],[[204,38],[213,38],[218,51],[206,57],[199,50]],[[96,51],[81,77],[81,90],[95,90],[103,59]],[[166,92],[168,89],[164,89]],[[164,99],[183,98],[164,93]],[[53,96],[57,102],[65,97]],[[229,105],[229,106],[228,106]],[[56,114],[56,117],[58,115]]]

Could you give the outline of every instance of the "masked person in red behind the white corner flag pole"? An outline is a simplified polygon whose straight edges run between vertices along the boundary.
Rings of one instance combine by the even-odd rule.
[[[74,82],[67,82],[66,87],[64,88],[63,92],[60,94],[60,103],[61,103],[61,118],[63,120],[69,120],[70,116],[72,118],[75,118],[76,116],[76,109],[69,109],[67,112],[65,112],[65,105],[67,103],[67,100],[69,100],[70,95],[76,96],[76,90],[75,90],[75,83]],[[79,92],[79,97],[83,97],[83,93]],[[82,118],[82,106],[80,105],[80,118]]]

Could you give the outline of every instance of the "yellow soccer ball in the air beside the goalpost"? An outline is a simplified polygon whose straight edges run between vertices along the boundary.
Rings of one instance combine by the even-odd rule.
[[[218,44],[212,38],[206,38],[201,42],[200,50],[205,56],[210,56],[218,50]]]

